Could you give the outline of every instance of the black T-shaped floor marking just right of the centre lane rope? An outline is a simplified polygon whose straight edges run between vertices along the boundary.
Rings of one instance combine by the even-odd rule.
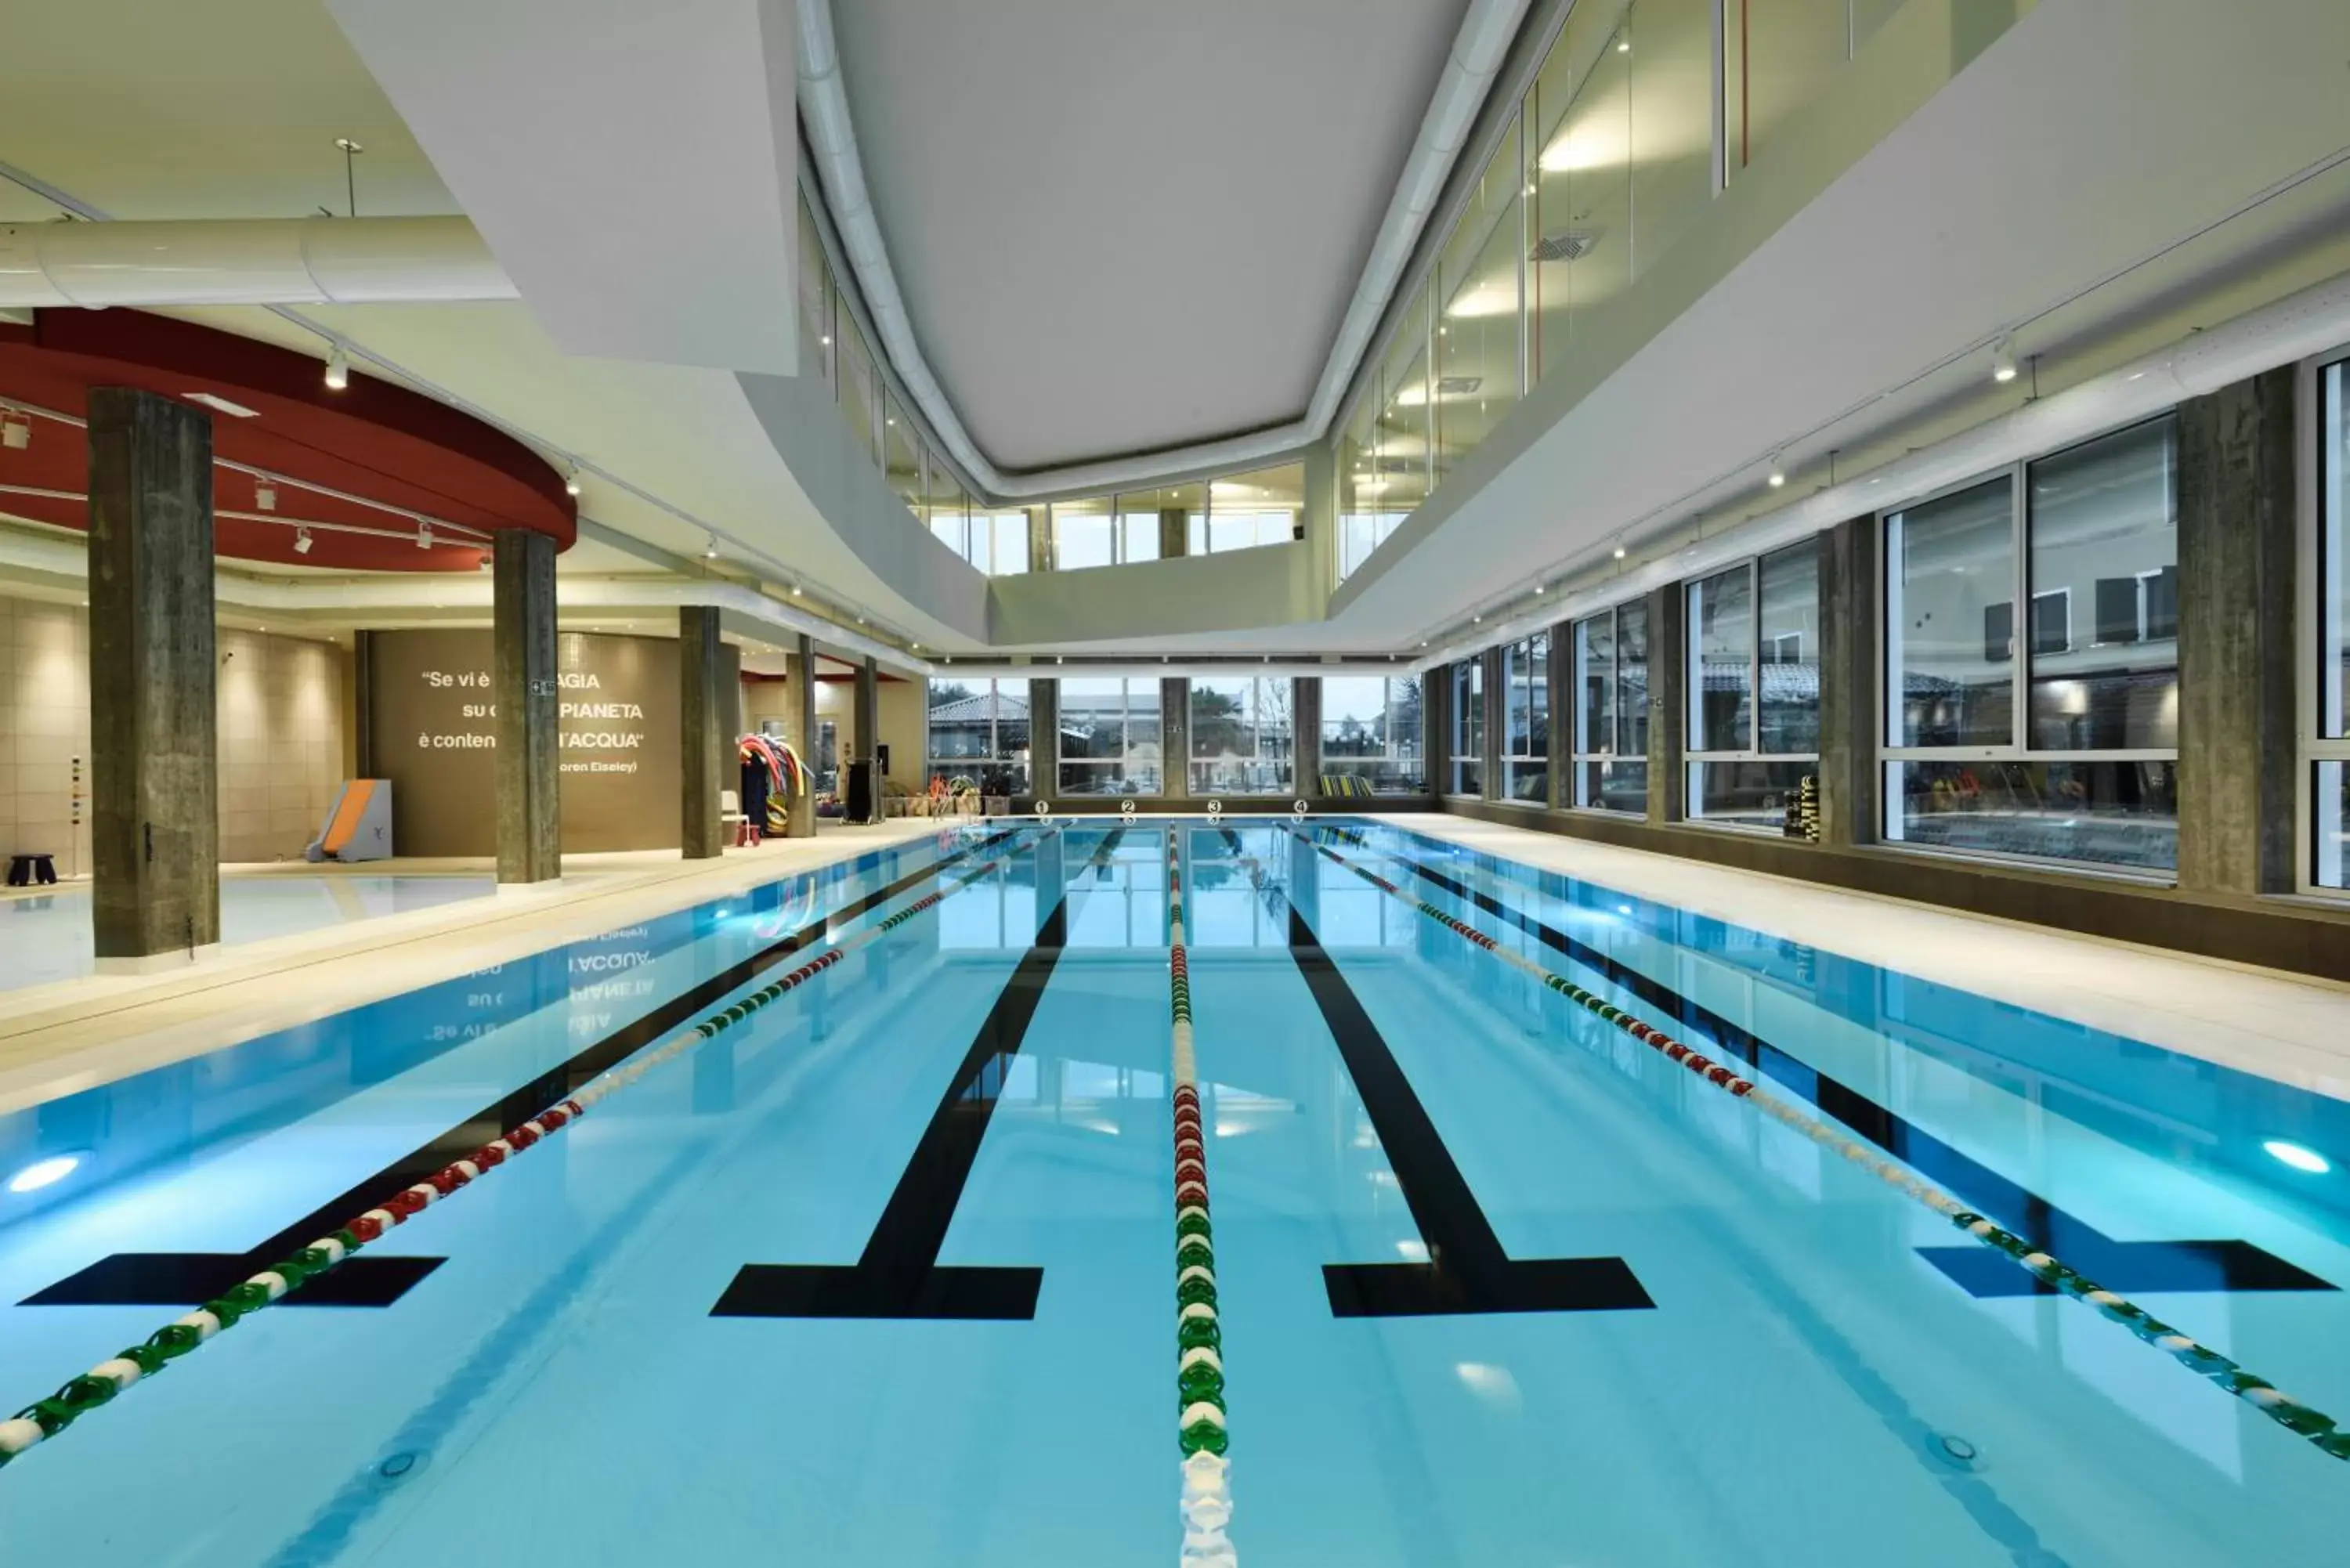
[[[1332,1316],[1483,1312],[1629,1312],[1654,1307],[1622,1258],[1528,1258],[1502,1251],[1485,1208],[1452,1164],[1426,1105],[1396,1063],[1363,999],[1290,903],[1290,959],[1337,1041],[1370,1131],[1419,1225],[1426,1262],[1325,1262]]]

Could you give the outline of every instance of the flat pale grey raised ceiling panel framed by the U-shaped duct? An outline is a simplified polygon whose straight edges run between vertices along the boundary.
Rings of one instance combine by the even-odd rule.
[[[999,468],[1297,418],[1466,0],[858,0],[914,334]]]

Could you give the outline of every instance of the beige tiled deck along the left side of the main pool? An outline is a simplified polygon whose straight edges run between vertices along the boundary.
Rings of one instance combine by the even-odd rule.
[[[503,964],[613,926],[726,898],[776,877],[921,839],[938,825],[891,820],[813,839],[728,849],[566,856],[564,877],[432,910],[385,914],[216,950],[148,976],[85,976],[0,994],[0,1114],[148,1067],[233,1046],[418,985]],[[247,867],[317,875],[317,865]],[[371,860],[362,875],[465,870],[477,860]]]

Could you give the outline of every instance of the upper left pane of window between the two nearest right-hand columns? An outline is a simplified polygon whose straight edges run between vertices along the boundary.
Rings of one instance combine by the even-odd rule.
[[[2007,745],[2016,710],[2014,482],[1885,520],[1885,733],[1899,745]]]

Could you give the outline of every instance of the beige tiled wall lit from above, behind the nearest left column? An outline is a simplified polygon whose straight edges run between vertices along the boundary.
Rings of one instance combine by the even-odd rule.
[[[350,654],[221,628],[221,860],[289,860],[350,766]],[[85,797],[73,818],[75,776]],[[78,604],[0,597],[0,856],[89,872],[89,637]]]

